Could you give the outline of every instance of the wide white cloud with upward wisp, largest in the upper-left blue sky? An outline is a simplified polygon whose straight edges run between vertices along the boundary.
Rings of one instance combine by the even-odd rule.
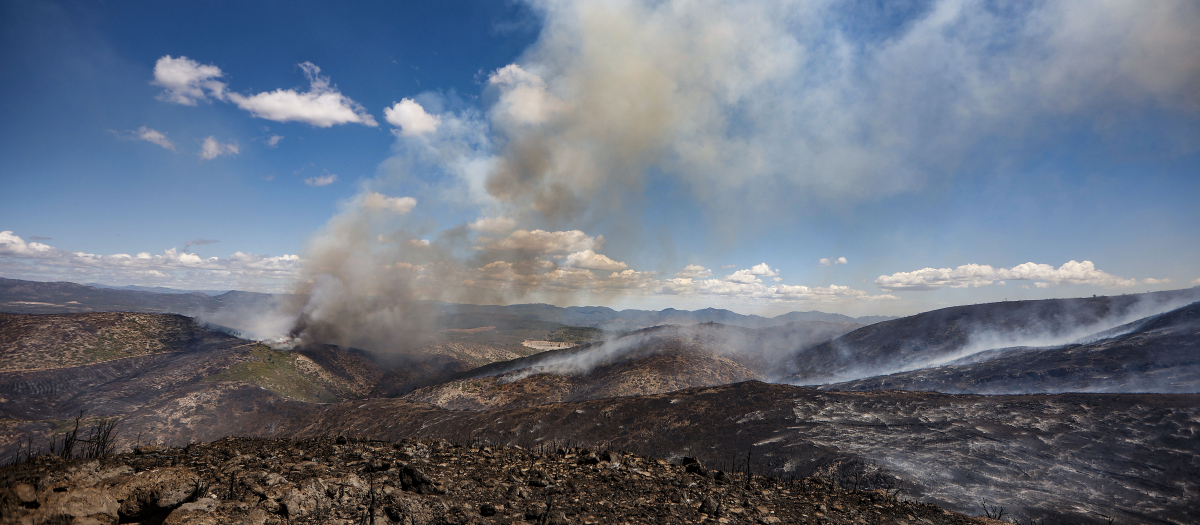
[[[310,89],[306,92],[277,89],[248,97],[230,92],[227,98],[251,115],[276,122],[295,121],[317,127],[342,123],[378,126],[362,105],[342,95],[337,88],[331,88],[329,77],[322,77],[319,67],[304,62],[300,68],[308,77]]]

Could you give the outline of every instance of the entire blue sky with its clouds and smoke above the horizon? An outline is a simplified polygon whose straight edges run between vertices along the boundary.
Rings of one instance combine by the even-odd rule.
[[[0,4],[0,276],[859,315],[1200,284],[1194,2],[343,4]]]

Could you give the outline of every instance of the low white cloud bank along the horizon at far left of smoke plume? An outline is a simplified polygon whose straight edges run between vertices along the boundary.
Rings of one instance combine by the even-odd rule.
[[[0,272],[13,278],[283,291],[299,276],[300,267],[298,255],[269,257],[242,252],[228,258],[200,258],[175,248],[164,249],[161,254],[97,255],[26,242],[12,231],[0,231]]]

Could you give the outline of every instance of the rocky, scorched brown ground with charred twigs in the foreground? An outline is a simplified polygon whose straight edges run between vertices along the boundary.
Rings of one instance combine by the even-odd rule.
[[[4,524],[1000,524],[617,451],[228,437],[0,469]],[[1000,509],[989,509],[998,512]],[[980,511],[983,512],[983,511]]]

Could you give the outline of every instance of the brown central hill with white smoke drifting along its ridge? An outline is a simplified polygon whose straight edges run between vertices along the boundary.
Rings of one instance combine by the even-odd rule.
[[[485,366],[406,398],[448,409],[488,410],[768,379],[794,352],[858,326],[821,321],[760,330],[718,324],[660,326]]]

